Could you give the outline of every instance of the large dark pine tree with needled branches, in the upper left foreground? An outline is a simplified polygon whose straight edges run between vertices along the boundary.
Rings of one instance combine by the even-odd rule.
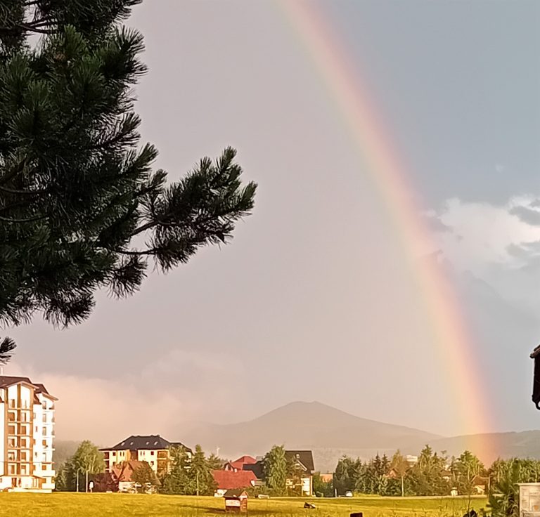
[[[127,296],[230,240],[250,214],[236,151],[181,181],[139,145],[132,89],[143,38],[122,27],[141,0],[0,0],[0,320],[88,318],[97,289]],[[39,37],[36,44],[34,37]],[[8,360],[14,343],[0,343]]]

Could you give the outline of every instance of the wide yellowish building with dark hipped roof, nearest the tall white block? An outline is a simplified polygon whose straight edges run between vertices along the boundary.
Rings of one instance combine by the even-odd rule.
[[[124,462],[147,462],[158,475],[167,473],[171,467],[171,447],[182,447],[188,458],[192,451],[179,442],[169,442],[159,435],[129,436],[114,447],[101,449],[105,459],[105,471],[113,472],[113,467]]]

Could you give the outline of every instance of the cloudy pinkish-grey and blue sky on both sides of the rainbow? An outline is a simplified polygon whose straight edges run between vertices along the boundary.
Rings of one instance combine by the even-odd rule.
[[[4,373],[60,398],[58,438],[181,440],[195,421],[293,400],[444,436],[540,428],[540,4],[308,3],[368,85],[434,247],[405,258],[283,2],[144,1],[127,21],[146,41],[141,142],[171,181],[232,145],[256,206],[230,245],[154,272],[131,299],[98,294],[78,327],[6,331],[19,347]],[[465,396],[414,281],[428,253],[469,329]],[[487,414],[471,425],[469,399]]]

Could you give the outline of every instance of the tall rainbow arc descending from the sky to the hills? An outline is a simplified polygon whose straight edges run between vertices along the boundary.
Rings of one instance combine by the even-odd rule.
[[[484,375],[480,373],[480,361],[475,357],[474,339],[442,266],[435,260],[418,266],[418,250],[436,249],[435,242],[390,131],[383,124],[366,84],[356,74],[356,63],[319,2],[278,0],[276,5],[326,86],[330,103],[335,106],[397,229],[404,256],[411,264],[418,301],[424,304],[432,327],[433,346],[441,357],[442,374],[446,377],[442,381],[454,391],[452,398],[456,400],[456,407],[446,410],[455,412],[461,420],[463,434],[470,438],[468,447],[481,458],[494,459],[493,441],[486,443],[475,438],[476,433],[491,428],[491,412],[482,386]],[[445,408],[437,407],[437,411],[445,411]]]

